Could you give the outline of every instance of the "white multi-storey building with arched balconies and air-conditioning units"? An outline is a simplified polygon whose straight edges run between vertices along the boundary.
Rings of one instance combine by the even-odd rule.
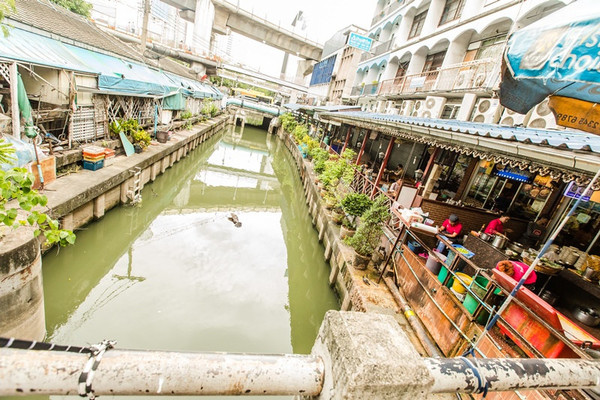
[[[507,36],[575,0],[378,0],[350,101],[405,116],[557,128],[495,98]]]

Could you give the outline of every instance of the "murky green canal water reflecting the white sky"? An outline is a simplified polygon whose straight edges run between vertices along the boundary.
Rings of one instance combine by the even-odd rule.
[[[339,304],[294,162],[276,137],[230,127],[142,196],[141,206],[109,211],[77,232],[74,247],[44,256],[49,341],[310,352]]]

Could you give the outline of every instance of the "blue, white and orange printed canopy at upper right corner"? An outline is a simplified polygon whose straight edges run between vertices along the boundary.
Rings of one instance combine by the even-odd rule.
[[[501,104],[526,114],[551,96],[559,125],[600,134],[599,31],[598,1],[579,0],[513,33]]]

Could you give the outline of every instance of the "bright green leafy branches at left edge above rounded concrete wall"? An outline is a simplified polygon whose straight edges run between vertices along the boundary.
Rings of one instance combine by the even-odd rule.
[[[0,163],[12,161],[14,152],[11,145],[0,140]],[[26,169],[0,170],[0,227],[29,224],[35,227],[34,235],[44,234],[50,245],[67,246],[75,243],[75,234],[72,231],[59,229],[58,221],[36,209],[45,207],[48,199],[32,186],[33,175]],[[14,201],[15,207],[7,207],[10,201]]]

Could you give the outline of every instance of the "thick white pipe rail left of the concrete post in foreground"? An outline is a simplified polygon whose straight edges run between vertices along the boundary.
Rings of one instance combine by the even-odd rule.
[[[0,396],[77,394],[89,357],[0,349]],[[96,396],[316,396],[323,386],[324,365],[320,358],[306,355],[108,350],[93,376],[91,391]]]

